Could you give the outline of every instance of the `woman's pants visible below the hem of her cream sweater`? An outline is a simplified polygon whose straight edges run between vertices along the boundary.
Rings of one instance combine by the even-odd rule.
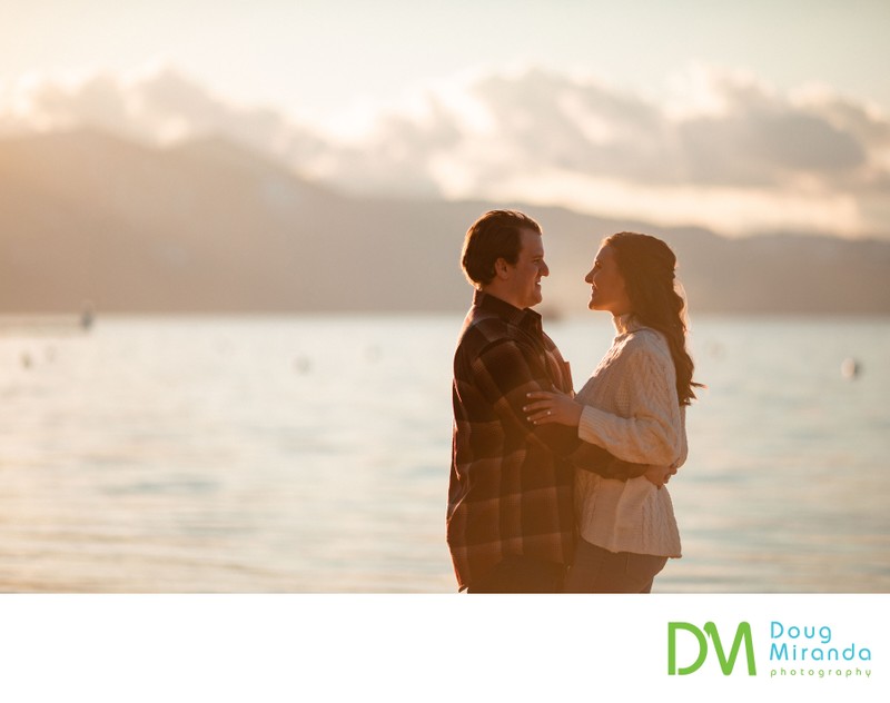
[[[666,556],[610,552],[578,539],[566,593],[650,593]]]

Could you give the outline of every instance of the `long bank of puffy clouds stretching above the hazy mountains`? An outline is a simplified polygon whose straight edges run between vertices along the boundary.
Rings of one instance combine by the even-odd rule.
[[[743,234],[890,236],[890,119],[827,87],[691,67],[655,98],[541,68],[475,72],[349,129],[214,95],[170,66],[0,87],[0,130],[92,123],[152,143],[222,135],[350,191],[530,200]]]

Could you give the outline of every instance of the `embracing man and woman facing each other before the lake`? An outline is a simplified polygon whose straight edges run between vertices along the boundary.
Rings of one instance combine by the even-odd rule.
[[[575,395],[532,308],[540,225],[493,210],[466,232],[475,288],[454,356],[447,541],[461,591],[649,593],[680,533],[664,484],[686,457],[695,397],[676,258],[662,240],[603,240],[589,307],[616,337]]]

